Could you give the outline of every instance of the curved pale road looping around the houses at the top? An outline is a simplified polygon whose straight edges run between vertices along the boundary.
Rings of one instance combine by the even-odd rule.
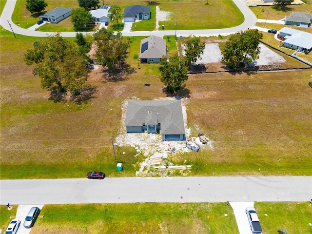
[[[13,31],[16,34],[25,35],[25,36],[32,36],[32,37],[47,37],[48,35],[52,35],[54,33],[51,32],[41,32],[41,31],[32,31],[20,28],[18,25],[14,24],[11,20],[11,16],[14,11],[14,7],[17,0],[7,0],[4,9],[1,14],[0,18],[0,24],[3,28],[5,28],[8,31],[11,31],[9,22],[11,24],[11,27]],[[224,28],[224,29],[204,29],[204,30],[159,30],[159,31],[136,31],[131,32],[129,30],[122,31],[123,36],[150,36],[150,35],[156,35],[156,36],[165,36],[165,35],[182,35],[183,37],[195,35],[195,36],[218,36],[219,34],[222,36],[230,35],[233,33],[236,33],[240,30],[244,31],[249,28],[253,28],[255,23],[257,22],[257,19],[254,15],[254,13],[249,9],[249,7],[245,4],[243,0],[234,0],[234,3],[239,8],[239,10],[244,15],[244,22],[236,27],[232,28]],[[9,22],[8,22],[9,20]],[[178,22],[177,22],[178,25]],[[62,37],[75,37],[76,32],[66,32],[61,33]]]

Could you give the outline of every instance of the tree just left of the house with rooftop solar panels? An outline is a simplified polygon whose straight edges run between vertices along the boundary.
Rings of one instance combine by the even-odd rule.
[[[117,33],[115,37],[99,35],[97,46],[96,57],[98,64],[107,66],[110,72],[115,69],[116,65],[119,69],[122,69],[122,62],[128,56],[129,41],[127,39],[123,39],[120,33]]]

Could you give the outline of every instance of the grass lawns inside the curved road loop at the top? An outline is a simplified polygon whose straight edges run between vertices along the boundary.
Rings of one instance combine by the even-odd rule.
[[[25,1],[17,1],[12,20],[15,24],[22,28],[29,28],[37,23],[39,16],[54,9],[57,6],[77,8],[78,1],[76,0],[47,0],[48,6],[44,12],[36,13],[32,15],[26,10]],[[159,22],[159,25],[165,25],[166,30],[175,29],[175,20],[177,20],[177,29],[214,29],[214,28],[229,28],[241,24],[244,21],[244,16],[238,10],[233,1],[210,1],[208,5],[205,1],[198,0],[186,0],[186,1],[168,1],[159,0],[153,1],[156,4],[151,5],[152,19],[143,20],[144,22],[136,23],[137,28],[133,28],[134,31],[149,30],[153,31],[156,23],[156,5],[160,7],[162,11],[171,12],[169,21]],[[102,2],[100,2],[102,4]],[[105,4],[118,5],[124,10],[125,7],[140,4],[148,5],[148,1],[145,0],[109,0],[105,1]],[[218,17],[222,15],[223,17]],[[200,17],[198,17],[200,16]],[[64,22],[62,22],[64,21]],[[53,32],[70,32],[75,31],[70,22],[70,17],[66,20],[62,20],[60,23],[46,24],[39,27],[38,30]],[[190,23],[192,22],[192,23]],[[53,26],[52,26],[53,25]],[[58,26],[59,25],[59,26]],[[93,29],[89,29],[92,31]]]

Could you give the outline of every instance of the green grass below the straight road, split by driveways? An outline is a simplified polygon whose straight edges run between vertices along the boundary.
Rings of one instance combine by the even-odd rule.
[[[277,233],[279,229],[293,234],[311,233],[312,208],[309,202],[255,202],[254,206],[263,234]],[[17,205],[10,211],[3,205],[0,209],[0,228],[5,230],[15,217]],[[46,234],[238,234],[233,209],[226,203],[44,205],[32,230],[33,233]]]

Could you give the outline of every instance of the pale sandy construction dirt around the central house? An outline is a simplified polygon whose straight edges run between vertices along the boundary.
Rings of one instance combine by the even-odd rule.
[[[139,100],[136,97],[132,97],[132,100]],[[174,98],[161,98],[157,100],[172,100]],[[182,112],[184,119],[184,128],[186,138],[191,135],[191,129],[187,128],[187,114],[186,106],[187,99],[181,99],[182,102]],[[126,111],[127,111],[128,100],[122,103],[122,123],[125,122]],[[198,137],[192,137],[192,140],[199,144],[202,148],[210,147],[213,149],[212,142],[208,141],[209,144],[202,145]],[[124,126],[119,130],[119,135],[116,137],[116,144],[119,146],[130,145],[137,149],[137,154],[142,154],[146,158],[140,164],[140,169],[137,171],[137,176],[168,176],[170,173],[163,173],[163,171],[155,171],[152,167],[154,165],[163,165],[163,159],[168,158],[170,155],[175,155],[184,152],[190,152],[191,150],[186,147],[185,141],[162,141],[162,136],[160,134],[127,134],[126,128]],[[166,162],[166,165],[172,165],[170,162]],[[153,170],[151,170],[153,169]],[[169,170],[169,169],[166,169]],[[188,170],[188,169],[185,169]],[[186,173],[186,172],[185,172]],[[183,175],[181,173],[181,175]],[[187,173],[186,173],[187,174]]]

